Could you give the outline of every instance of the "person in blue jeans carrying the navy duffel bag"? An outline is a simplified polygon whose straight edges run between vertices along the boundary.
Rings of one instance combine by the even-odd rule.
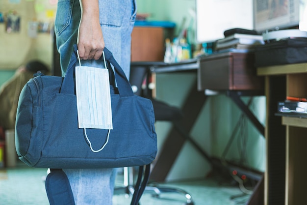
[[[62,76],[73,45],[77,43],[83,66],[104,67],[106,47],[130,71],[131,32],[136,17],[135,0],[58,0],[54,23]],[[112,205],[116,169],[64,169],[76,205]]]

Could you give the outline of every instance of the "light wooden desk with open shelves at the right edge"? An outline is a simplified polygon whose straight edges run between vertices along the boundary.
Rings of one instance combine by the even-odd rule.
[[[307,96],[307,63],[257,68],[266,76],[265,205],[307,204],[307,118],[278,117],[285,96]],[[285,126],[284,126],[285,125]]]

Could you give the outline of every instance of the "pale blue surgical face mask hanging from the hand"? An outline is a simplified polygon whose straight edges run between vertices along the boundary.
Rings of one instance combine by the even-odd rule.
[[[109,71],[105,60],[104,66],[81,66],[80,60],[79,66],[76,66],[78,127],[84,128],[86,138],[87,128],[108,129],[109,132],[113,129]]]

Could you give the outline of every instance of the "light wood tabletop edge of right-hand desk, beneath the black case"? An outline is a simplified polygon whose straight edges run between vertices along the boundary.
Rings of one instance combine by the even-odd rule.
[[[286,65],[274,65],[258,67],[257,75],[284,75],[295,73],[307,73],[307,63],[295,63]]]

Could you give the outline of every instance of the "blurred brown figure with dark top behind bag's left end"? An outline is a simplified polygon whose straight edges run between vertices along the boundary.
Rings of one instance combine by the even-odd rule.
[[[12,78],[0,87],[0,127],[4,130],[15,129],[20,92],[34,73],[48,74],[49,68],[39,60],[31,60],[20,66]]]

